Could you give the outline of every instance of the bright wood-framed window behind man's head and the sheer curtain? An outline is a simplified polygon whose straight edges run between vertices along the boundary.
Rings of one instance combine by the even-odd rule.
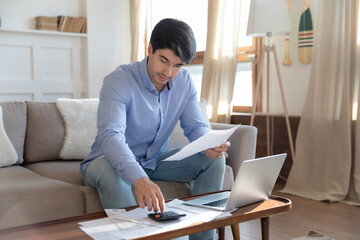
[[[233,93],[233,112],[251,112],[255,91],[256,59],[261,49],[260,40],[246,36],[250,0],[242,0],[240,36],[238,42],[238,64]],[[191,7],[189,7],[191,6]],[[150,28],[163,18],[177,18],[187,22],[194,31],[197,52],[190,65],[185,66],[193,76],[200,99],[203,73],[203,57],[206,49],[207,0],[152,0],[150,3]],[[254,59],[254,60],[253,60]],[[260,103],[258,101],[258,107]]]

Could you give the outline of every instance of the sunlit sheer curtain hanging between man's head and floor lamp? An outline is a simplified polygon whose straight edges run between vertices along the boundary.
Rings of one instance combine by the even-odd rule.
[[[211,0],[208,3],[201,98],[206,99],[207,112],[212,122],[230,122],[236,74],[240,2]]]

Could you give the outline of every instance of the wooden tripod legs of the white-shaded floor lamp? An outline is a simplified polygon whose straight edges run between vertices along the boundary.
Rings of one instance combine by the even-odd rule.
[[[281,99],[282,99],[282,103],[283,103],[283,108],[284,108],[284,115],[285,115],[285,120],[286,120],[286,127],[287,127],[287,131],[288,131],[288,136],[289,136],[289,143],[290,143],[290,150],[291,150],[291,157],[294,161],[295,159],[295,151],[294,151],[294,143],[293,143],[293,139],[292,139],[292,134],[291,134],[291,129],[290,129],[290,122],[289,122],[289,115],[288,115],[288,111],[287,111],[287,107],[286,107],[286,101],[285,101],[285,94],[284,94],[284,88],[282,85],[282,80],[281,80],[281,75],[280,75],[280,67],[279,67],[279,61],[277,58],[277,54],[276,54],[276,48],[275,45],[267,45],[263,47],[263,51],[264,54],[262,54],[261,59],[260,59],[260,72],[258,74],[257,77],[257,83],[256,83],[256,92],[255,92],[255,99],[254,99],[254,105],[252,107],[252,114],[251,114],[251,120],[250,120],[250,125],[253,126],[254,125],[254,118],[255,118],[255,110],[256,110],[256,104],[257,104],[257,99],[259,96],[259,92],[260,92],[260,85],[261,85],[261,77],[262,77],[262,73],[263,73],[263,63],[264,63],[264,55],[266,54],[266,97],[267,97],[267,101],[266,101],[266,143],[267,143],[267,154],[270,155],[270,116],[269,116],[269,109],[270,109],[270,97],[269,97],[269,93],[270,93],[270,53],[273,53],[274,59],[275,59],[275,66],[276,66],[276,72],[277,72],[277,77],[279,80],[279,87],[280,87],[280,93],[281,93]]]

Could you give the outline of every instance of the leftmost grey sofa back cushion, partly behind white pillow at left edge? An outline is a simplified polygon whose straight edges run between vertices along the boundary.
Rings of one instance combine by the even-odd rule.
[[[26,105],[23,102],[2,102],[4,128],[16,153],[16,164],[24,161],[24,141],[26,131]]]

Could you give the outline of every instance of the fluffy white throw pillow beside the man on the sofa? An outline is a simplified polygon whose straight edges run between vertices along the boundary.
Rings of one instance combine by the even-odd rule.
[[[99,99],[58,99],[56,106],[65,122],[62,159],[84,159],[91,150],[97,127]]]

